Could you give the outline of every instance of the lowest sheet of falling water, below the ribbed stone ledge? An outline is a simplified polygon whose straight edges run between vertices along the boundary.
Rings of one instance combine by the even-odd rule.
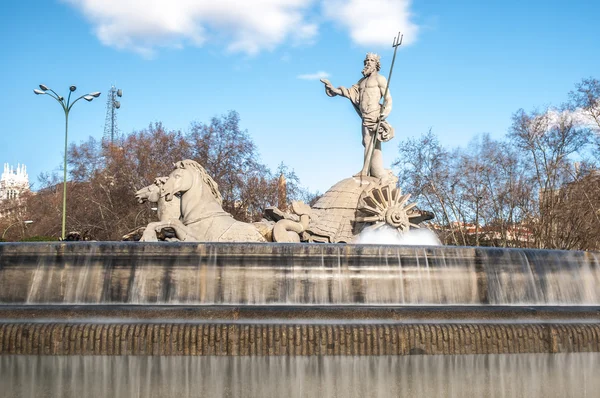
[[[0,357],[11,397],[597,397],[600,356]],[[32,383],[32,380],[34,381]],[[6,396],[6,395],[4,395]]]

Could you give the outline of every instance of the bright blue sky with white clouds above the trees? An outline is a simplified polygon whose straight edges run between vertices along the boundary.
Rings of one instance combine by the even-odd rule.
[[[378,4],[381,12],[375,12]],[[280,162],[321,192],[362,166],[360,120],[335,86],[360,78],[367,51],[387,76],[395,32],[405,33],[390,91],[398,143],[430,127],[448,146],[503,137],[511,115],[558,105],[582,78],[600,78],[600,2],[406,0],[7,0],[0,5],[0,162],[30,180],[62,165],[64,115],[33,89],[101,91],[69,118],[69,141],[100,138],[111,85],[123,90],[129,133],[161,121],[236,110],[273,170]]]

